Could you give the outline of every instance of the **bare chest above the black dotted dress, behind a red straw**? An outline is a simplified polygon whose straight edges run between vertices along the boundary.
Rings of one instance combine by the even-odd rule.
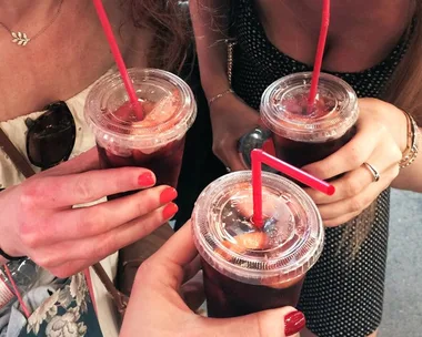
[[[277,50],[312,65],[322,8],[307,6],[305,2],[240,0],[237,4],[238,22],[248,27],[249,23],[244,20],[249,20],[250,24],[255,25],[249,28],[255,32],[262,31]],[[356,6],[351,1],[332,1],[322,65],[325,71],[361,72],[380,63],[399,42],[409,19],[406,13],[394,22],[368,20],[365,16],[371,17],[371,9],[368,12],[356,11]]]

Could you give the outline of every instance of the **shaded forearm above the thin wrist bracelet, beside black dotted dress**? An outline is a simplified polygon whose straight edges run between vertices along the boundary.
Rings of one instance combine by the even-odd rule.
[[[227,0],[189,1],[201,82],[210,99],[229,89],[227,43],[230,4]]]

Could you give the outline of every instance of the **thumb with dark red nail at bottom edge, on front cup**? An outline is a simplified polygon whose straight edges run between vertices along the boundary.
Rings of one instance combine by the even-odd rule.
[[[208,319],[204,337],[291,337],[305,326],[301,312],[283,307],[229,319]]]

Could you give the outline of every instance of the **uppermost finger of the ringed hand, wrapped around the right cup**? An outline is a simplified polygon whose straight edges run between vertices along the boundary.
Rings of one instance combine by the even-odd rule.
[[[375,127],[376,126],[376,127]],[[328,180],[361,166],[378,146],[384,129],[374,123],[358,121],[355,136],[326,159],[302,167],[305,172]]]

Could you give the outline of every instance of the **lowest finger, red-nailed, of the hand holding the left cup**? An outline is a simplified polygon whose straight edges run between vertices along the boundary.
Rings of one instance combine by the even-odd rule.
[[[31,254],[31,257],[36,263],[48,269],[58,268],[63,265],[63,262],[86,261],[88,265],[78,266],[78,270],[81,270],[151,234],[173,217],[177,211],[177,205],[170,203],[108,233],[83,239],[61,242],[37,249]]]

